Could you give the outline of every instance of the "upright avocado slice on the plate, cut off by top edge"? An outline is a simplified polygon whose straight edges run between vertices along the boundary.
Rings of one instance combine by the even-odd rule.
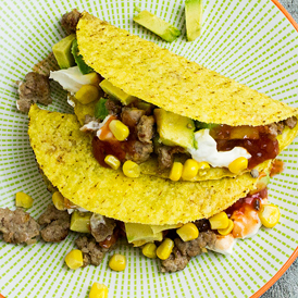
[[[187,41],[194,41],[201,34],[202,0],[185,0]]]

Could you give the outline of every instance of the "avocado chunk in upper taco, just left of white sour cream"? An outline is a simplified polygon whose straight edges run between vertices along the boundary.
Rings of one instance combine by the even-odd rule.
[[[163,109],[156,109],[157,128],[162,144],[167,146],[194,147],[195,123],[191,119]]]

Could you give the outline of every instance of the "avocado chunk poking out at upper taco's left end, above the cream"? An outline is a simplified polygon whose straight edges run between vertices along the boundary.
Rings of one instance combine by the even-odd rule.
[[[61,39],[52,47],[54,58],[61,70],[69,69],[75,65],[75,60],[72,54],[72,44],[74,39],[75,34],[71,34]]]

